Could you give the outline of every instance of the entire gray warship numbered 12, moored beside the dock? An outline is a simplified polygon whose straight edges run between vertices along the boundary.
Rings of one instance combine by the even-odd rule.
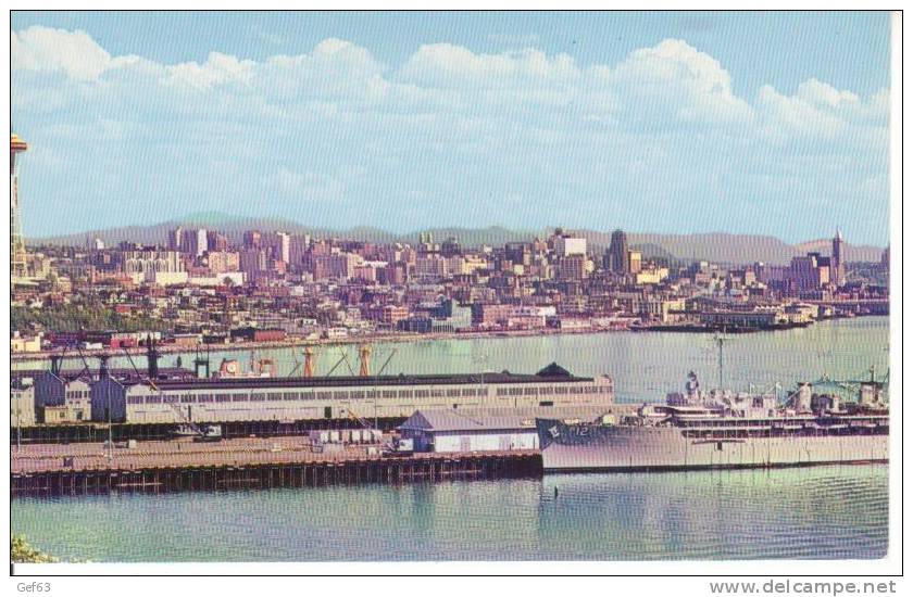
[[[738,469],[887,462],[885,383],[858,382],[856,399],[800,383],[775,392],[703,392],[692,371],[665,404],[592,421],[536,419],[547,472]]]

